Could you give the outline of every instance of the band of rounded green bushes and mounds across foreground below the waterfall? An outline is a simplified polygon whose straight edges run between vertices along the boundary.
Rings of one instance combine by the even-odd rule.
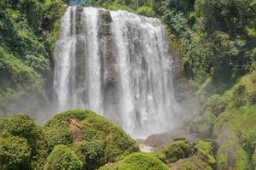
[[[72,121],[71,121],[72,120]],[[119,126],[91,111],[66,111],[44,126],[19,114],[0,120],[0,168],[3,170],[167,170],[216,164],[212,143],[190,144],[183,138],[153,154],[138,152],[136,142]],[[76,128],[73,128],[75,126]],[[79,139],[75,139],[78,137]]]

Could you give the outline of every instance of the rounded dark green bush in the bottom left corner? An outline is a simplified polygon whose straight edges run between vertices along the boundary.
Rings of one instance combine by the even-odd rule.
[[[30,168],[31,148],[26,139],[0,135],[0,168],[3,170],[26,170]]]

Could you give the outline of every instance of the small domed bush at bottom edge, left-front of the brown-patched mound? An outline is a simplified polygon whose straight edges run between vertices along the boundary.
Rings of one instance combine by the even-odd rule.
[[[45,170],[81,170],[83,162],[66,145],[56,145],[45,162]]]

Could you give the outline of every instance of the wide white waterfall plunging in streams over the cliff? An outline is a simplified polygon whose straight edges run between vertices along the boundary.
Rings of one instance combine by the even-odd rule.
[[[90,109],[133,137],[170,130],[179,105],[172,55],[160,20],[69,7],[55,48],[55,106]]]

